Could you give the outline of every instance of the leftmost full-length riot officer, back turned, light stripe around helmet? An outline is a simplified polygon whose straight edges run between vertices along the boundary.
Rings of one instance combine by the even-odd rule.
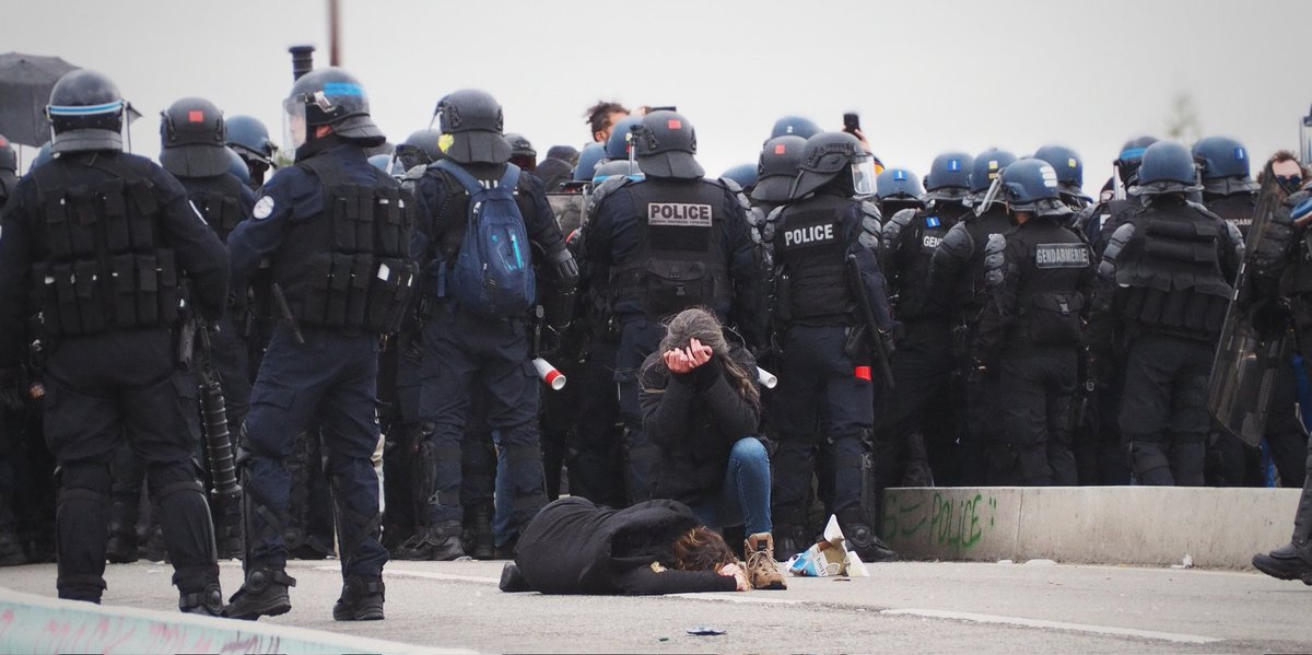
[[[193,459],[194,374],[174,358],[180,277],[223,314],[227,256],[173,179],[122,152],[126,104],[98,72],[50,93],[55,159],[14,189],[0,236],[0,364],[17,366],[29,294],[46,356],[46,438],[59,465],[59,597],[105,589],[109,461],[126,436],[147,466],[184,612],[219,613],[219,570]],[[5,375],[13,385],[17,377]]]

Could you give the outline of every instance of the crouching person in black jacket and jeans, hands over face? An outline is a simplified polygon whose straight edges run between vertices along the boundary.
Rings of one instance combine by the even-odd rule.
[[[678,500],[715,528],[744,525],[748,580],[782,589],[770,524],[770,458],[756,438],[756,360],[729,347],[715,315],[684,310],[643,362],[643,429],[659,450],[652,497]]]

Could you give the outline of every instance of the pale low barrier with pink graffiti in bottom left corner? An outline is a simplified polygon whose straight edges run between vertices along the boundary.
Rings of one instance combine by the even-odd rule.
[[[0,588],[0,654],[471,652],[273,623],[75,602]]]

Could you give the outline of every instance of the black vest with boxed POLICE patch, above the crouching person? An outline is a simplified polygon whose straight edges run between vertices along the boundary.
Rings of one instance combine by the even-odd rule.
[[[638,249],[611,269],[617,301],[638,298],[648,318],[690,307],[728,310],[724,188],[707,181],[646,180],[626,186],[639,213]]]

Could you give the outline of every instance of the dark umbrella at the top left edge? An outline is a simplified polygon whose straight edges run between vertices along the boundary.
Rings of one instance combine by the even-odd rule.
[[[28,146],[50,140],[50,122],[46,121],[50,89],[73,68],[76,66],[58,56],[0,55],[0,134]]]

